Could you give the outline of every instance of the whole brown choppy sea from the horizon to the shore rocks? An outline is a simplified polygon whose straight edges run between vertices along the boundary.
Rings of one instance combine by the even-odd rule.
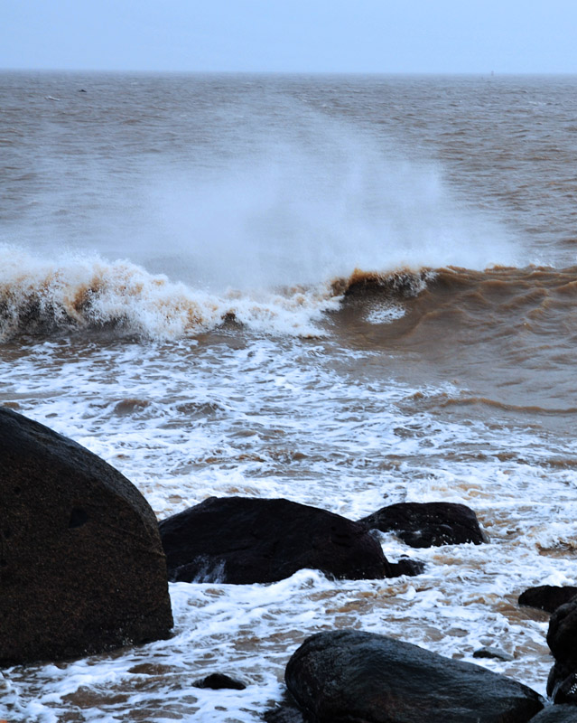
[[[336,628],[544,694],[517,596],[577,584],[577,76],[4,71],[0,178],[0,404],[160,520],[441,501],[489,537],[380,533],[417,577],[171,583],[170,639],[4,669],[0,718],[253,723]]]

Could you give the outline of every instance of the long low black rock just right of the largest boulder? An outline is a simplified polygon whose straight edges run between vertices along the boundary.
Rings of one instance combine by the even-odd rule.
[[[161,521],[169,578],[266,583],[313,568],[348,579],[394,577],[357,522],[288,500],[210,497]]]

